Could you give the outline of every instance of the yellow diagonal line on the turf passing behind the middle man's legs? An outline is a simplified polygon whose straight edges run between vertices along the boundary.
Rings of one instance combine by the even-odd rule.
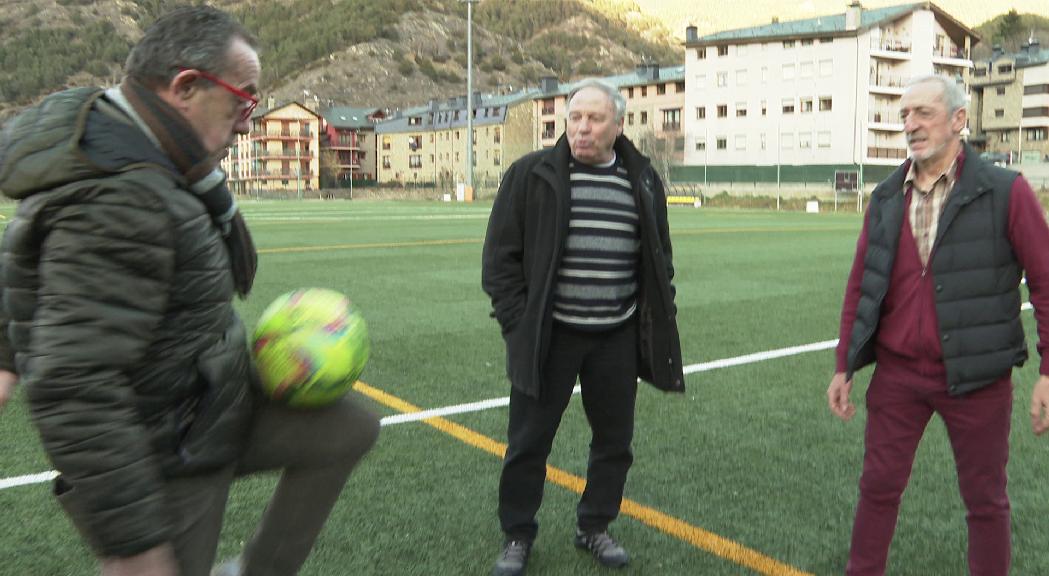
[[[404,400],[384,392],[378,388],[368,386],[363,382],[355,384],[354,389],[374,400],[376,402],[402,413],[422,411],[422,408],[419,406],[405,402]],[[500,458],[507,451],[506,444],[474,432],[466,426],[455,424],[450,420],[435,417],[424,420],[423,422],[466,444],[469,444],[470,446],[479,448]],[[554,468],[550,465],[547,465],[547,479],[553,484],[568,488],[577,494],[582,494],[583,488],[586,486],[585,479],[570,472],[565,472],[559,468]],[[623,514],[630,516],[646,526],[655,528],[664,534],[668,534],[682,541],[688,542],[695,548],[713,554],[714,556],[719,556],[740,566],[749,568],[758,574],[765,574],[768,576],[812,576],[807,572],[802,572],[792,566],[785,564],[774,558],[770,558],[761,552],[751,550],[738,542],[724,538],[713,532],[703,530],[702,528],[694,527],[683,520],[679,520],[673,516],[669,516],[659,510],[638,504],[631,499],[623,498],[621,510]]]

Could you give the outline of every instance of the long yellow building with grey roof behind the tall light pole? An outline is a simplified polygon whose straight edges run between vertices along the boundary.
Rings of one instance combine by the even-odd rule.
[[[532,150],[532,97],[474,93],[474,185],[494,188],[507,166]],[[380,184],[464,183],[467,154],[466,97],[431,101],[395,112],[376,126]]]

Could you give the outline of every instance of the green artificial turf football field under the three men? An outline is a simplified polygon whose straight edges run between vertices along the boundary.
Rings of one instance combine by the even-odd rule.
[[[490,205],[255,202],[242,209],[260,252],[249,324],[278,294],[345,292],[368,320],[362,402],[384,417],[500,399],[504,347],[480,290]],[[0,208],[9,216],[13,208]],[[841,574],[862,457],[862,394],[843,424],[827,409],[830,349],[711,364],[837,336],[860,216],[672,208],[670,227],[684,394],[642,384],[635,465],[612,533],[631,553],[618,574]],[[1031,313],[1024,313],[1033,354]],[[1049,438],[1030,431],[1036,362],[1014,372],[1009,463],[1013,574],[1049,574]],[[364,396],[364,394],[367,396]],[[318,541],[304,575],[484,575],[495,517],[507,409],[388,421]],[[352,425],[348,423],[347,425]],[[550,458],[529,574],[604,570],[572,546],[588,428],[579,398]],[[0,413],[0,483],[49,470],[21,394]],[[219,557],[259,517],[274,475],[235,485]],[[0,484],[2,486],[2,484]],[[944,427],[934,419],[904,494],[890,574],[963,575],[964,508]],[[0,575],[93,574],[48,485],[0,489]]]

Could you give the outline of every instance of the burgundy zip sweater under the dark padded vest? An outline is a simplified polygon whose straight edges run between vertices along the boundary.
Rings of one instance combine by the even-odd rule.
[[[960,168],[959,168],[960,170]],[[907,190],[904,199],[903,226],[900,227],[900,242],[893,262],[889,292],[881,303],[881,317],[875,340],[875,357],[879,361],[892,359],[900,367],[928,377],[945,377],[943,350],[940,347],[940,328],[936,317],[936,297],[932,271],[925,271],[918,256],[918,246],[911,232],[909,210],[912,192]],[[853,322],[856,320],[856,305],[860,297],[860,279],[863,276],[863,259],[866,255],[868,221],[870,212],[863,219],[863,230],[856,243],[849,283],[845,286],[844,304],[841,310],[841,326],[836,349],[835,371],[848,371],[845,356]],[[1049,375],[1049,359],[1044,354],[1049,344],[1049,226],[1046,225],[1042,206],[1030,185],[1022,176],[1012,184],[1009,197],[1009,242],[1016,260],[1024,269],[1030,301],[1034,306],[1037,323],[1037,350],[1042,357],[1040,374]],[[937,247],[933,247],[929,261],[936,258]]]

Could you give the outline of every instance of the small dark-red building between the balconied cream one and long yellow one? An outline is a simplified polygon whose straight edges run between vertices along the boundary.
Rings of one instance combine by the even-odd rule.
[[[321,171],[334,180],[324,185],[376,180],[376,124],[386,118],[384,111],[337,106],[321,111]]]

